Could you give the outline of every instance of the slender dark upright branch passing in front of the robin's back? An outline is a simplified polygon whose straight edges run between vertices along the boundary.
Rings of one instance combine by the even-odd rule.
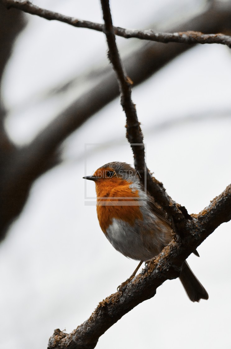
[[[103,9],[103,19],[105,23],[104,31],[107,38],[107,45],[109,47],[108,56],[117,74],[117,79],[120,87],[121,105],[126,114],[126,137],[133,150],[135,169],[139,171],[143,184],[145,183],[146,179],[148,190],[153,195],[153,197],[165,208],[166,212],[169,214],[169,219],[171,220],[173,218],[174,225],[178,224],[179,222],[184,221],[185,217],[191,217],[184,207],[182,208],[180,205],[177,205],[170,198],[170,196],[166,193],[162,183],[157,181],[155,178],[152,178],[149,171],[146,171],[143,134],[141,131],[140,123],[138,122],[135,105],[132,102],[132,81],[125,72],[125,68],[122,65],[116,45],[116,37],[114,35],[114,29],[112,25],[109,0],[101,0],[101,6]],[[181,232],[181,230],[179,232]]]

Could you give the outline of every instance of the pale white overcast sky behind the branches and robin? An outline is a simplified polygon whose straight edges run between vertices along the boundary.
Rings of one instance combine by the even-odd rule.
[[[102,22],[98,1],[34,3]],[[158,22],[166,8],[168,21],[172,21],[170,9],[179,18],[186,17],[200,4],[169,0],[156,5],[144,0],[142,6],[133,1],[131,7],[130,1],[111,1],[115,25],[128,28]],[[4,78],[11,111],[7,128],[19,144],[29,142],[74,94],[31,103],[28,110],[17,112],[23,101],[83,73],[93,64],[92,57],[98,64],[106,62],[101,33],[29,18]],[[119,44],[127,50],[126,40]],[[197,46],[133,90],[148,167],[189,213],[198,213],[230,183],[231,118],[224,117],[231,110],[230,61],[230,50],[224,46]],[[187,116],[203,114],[208,114],[203,121],[187,121]],[[217,118],[210,119],[210,114]],[[178,117],[185,121],[155,131],[155,125]],[[0,246],[0,348],[46,348],[55,328],[71,332],[136,267],[137,262],[126,259],[106,240],[95,207],[84,206],[85,184],[89,195],[95,195],[94,183],[82,179],[84,144],[95,143],[86,154],[90,173],[111,161],[132,164],[124,126],[118,98],[69,137],[65,161],[33,185],[23,213]],[[208,291],[208,301],[192,303],[179,280],[167,281],[154,298],[109,329],[97,348],[230,348],[230,229],[230,222],[222,224],[199,246],[201,257],[188,259]]]

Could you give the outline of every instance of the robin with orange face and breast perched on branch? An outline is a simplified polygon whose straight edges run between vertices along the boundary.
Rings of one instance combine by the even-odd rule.
[[[157,256],[173,237],[166,213],[145,193],[139,173],[124,162],[105,164],[93,176],[97,216],[104,235],[126,257],[143,262]],[[197,251],[194,252],[199,256]],[[130,279],[129,278],[129,279]],[[180,281],[192,302],[208,299],[208,293],[184,261]]]

